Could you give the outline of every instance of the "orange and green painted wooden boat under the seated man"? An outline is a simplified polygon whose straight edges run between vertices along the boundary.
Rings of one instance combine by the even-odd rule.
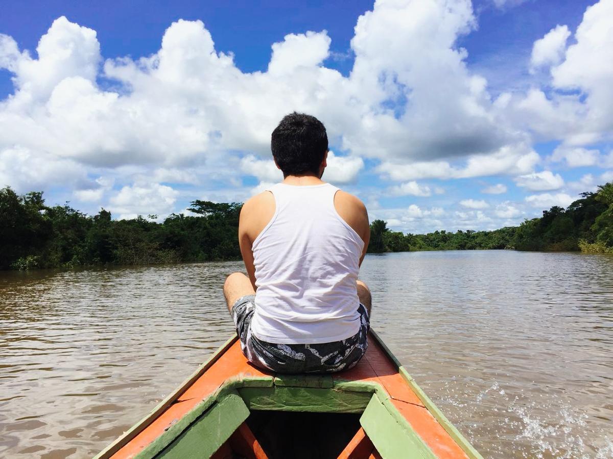
[[[368,341],[351,370],[280,375],[232,337],[97,458],[481,458],[375,332]]]

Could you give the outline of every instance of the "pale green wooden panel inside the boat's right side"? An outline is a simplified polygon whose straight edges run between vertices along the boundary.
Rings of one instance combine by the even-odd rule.
[[[394,410],[396,411],[396,410]],[[432,450],[408,423],[400,424],[376,395],[373,395],[360,417],[360,424],[375,448],[386,459],[436,458]],[[404,419],[404,418],[403,418]],[[407,428],[408,427],[408,428]]]

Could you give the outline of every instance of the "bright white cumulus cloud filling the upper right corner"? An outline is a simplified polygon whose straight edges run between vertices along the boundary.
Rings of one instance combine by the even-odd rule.
[[[558,26],[541,42],[537,62],[554,63],[553,91],[533,88],[508,105],[506,116],[543,138],[564,140],[569,146],[586,146],[613,136],[613,2],[601,0],[585,10],[567,48],[566,29]],[[550,35],[551,34],[551,35]],[[545,44],[544,44],[545,43]],[[536,44],[535,44],[536,47]],[[514,113],[515,112],[515,113]],[[514,114],[513,114],[514,113]]]

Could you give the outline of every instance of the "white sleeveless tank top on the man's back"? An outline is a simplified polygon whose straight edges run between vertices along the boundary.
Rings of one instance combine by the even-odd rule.
[[[253,241],[251,330],[269,343],[340,341],[360,327],[356,280],[364,241],[334,207],[330,184],[276,184],[275,215]]]

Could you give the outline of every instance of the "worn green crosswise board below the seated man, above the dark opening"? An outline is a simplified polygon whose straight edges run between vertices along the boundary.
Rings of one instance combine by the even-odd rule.
[[[245,387],[238,389],[251,410],[361,413],[370,392],[316,389],[314,387]]]

